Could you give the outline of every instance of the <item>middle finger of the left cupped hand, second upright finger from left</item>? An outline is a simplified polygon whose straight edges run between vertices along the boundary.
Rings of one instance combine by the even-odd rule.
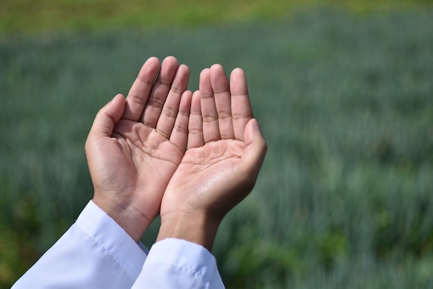
[[[178,62],[176,58],[169,56],[163,60],[160,72],[147,100],[145,111],[141,116],[142,122],[148,127],[156,128],[177,69]]]

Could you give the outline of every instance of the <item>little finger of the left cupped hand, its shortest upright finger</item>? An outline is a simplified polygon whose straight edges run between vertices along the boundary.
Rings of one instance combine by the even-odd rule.
[[[185,91],[181,98],[181,104],[174,122],[174,129],[170,136],[170,142],[176,145],[182,152],[185,151],[188,138],[188,121],[190,120],[192,92]]]

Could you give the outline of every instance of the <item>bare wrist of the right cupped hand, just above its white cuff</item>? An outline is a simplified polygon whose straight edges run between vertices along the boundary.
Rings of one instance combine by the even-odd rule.
[[[156,241],[167,238],[183,239],[202,245],[211,252],[220,223],[220,220],[210,218],[205,213],[173,212],[168,216],[161,216]]]

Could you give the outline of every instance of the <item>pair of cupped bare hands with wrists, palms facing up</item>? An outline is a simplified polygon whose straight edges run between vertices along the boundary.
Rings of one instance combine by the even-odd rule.
[[[240,68],[230,81],[218,64],[204,69],[194,94],[188,77],[174,57],[148,59],[126,100],[96,115],[86,156],[93,202],[135,241],[160,214],[157,241],[212,250],[219,223],[254,187],[266,142]]]

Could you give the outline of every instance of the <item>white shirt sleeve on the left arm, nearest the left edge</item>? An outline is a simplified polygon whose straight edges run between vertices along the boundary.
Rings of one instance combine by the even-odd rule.
[[[131,288],[147,250],[93,201],[12,288]]]

